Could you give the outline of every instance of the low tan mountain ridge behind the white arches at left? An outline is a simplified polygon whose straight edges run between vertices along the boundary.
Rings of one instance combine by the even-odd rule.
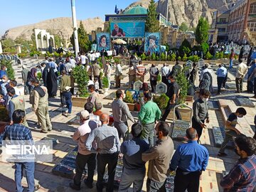
[[[77,21],[77,23],[79,27],[80,21]],[[98,27],[104,27],[104,21],[102,21],[100,17],[87,18],[82,21],[82,24],[85,26],[85,30],[87,31],[87,33],[91,33],[91,31],[96,30]],[[8,31],[6,31],[6,33],[4,33],[3,37],[16,39],[17,37],[21,36],[27,40],[30,40],[31,35],[33,34],[33,28],[49,29],[50,31],[58,33],[65,39],[69,39],[71,34],[73,33],[72,18],[60,17],[48,19],[46,21],[41,21],[39,23],[34,23],[27,26],[10,28]]]

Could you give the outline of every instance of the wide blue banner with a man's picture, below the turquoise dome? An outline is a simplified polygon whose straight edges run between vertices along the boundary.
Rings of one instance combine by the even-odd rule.
[[[111,38],[144,38],[145,22],[111,22]]]

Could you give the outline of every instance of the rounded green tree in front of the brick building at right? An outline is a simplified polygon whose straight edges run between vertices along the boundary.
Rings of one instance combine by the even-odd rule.
[[[196,26],[196,42],[206,43],[208,41],[208,29],[209,23],[206,18],[201,17],[198,21],[198,25]]]

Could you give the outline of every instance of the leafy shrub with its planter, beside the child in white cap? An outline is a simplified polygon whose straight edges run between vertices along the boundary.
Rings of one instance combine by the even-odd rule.
[[[82,65],[76,66],[73,68],[72,75],[75,82],[78,84],[77,97],[72,97],[73,106],[83,107],[89,96],[89,93],[87,92],[87,83],[89,81],[87,70],[86,68],[83,68]]]

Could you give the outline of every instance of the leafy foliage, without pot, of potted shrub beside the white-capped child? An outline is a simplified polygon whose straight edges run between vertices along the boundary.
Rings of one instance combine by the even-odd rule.
[[[78,95],[80,97],[87,97],[87,83],[89,81],[89,77],[86,68],[82,68],[82,65],[75,66],[75,68],[73,68],[72,75],[75,82],[78,84]]]

